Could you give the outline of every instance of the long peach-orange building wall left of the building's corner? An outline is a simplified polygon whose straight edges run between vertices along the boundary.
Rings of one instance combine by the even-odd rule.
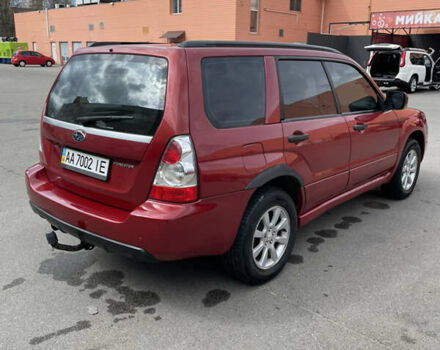
[[[49,10],[48,24],[45,11],[20,13],[15,23],[20,41],[35,41],[49,56],[50,42],[56,42],[60,58],[60,41],[68,42],[71,55],[73,41],[83,46],[87,41],[166,42],[160,36],[169,30],[185,30],[186,40],[234,40],[235,11],[236,0],[183,0],[182,14],[171,14],[167,0],[138,0]],[[55,32],[48,35],[47,26],[55,26]]]

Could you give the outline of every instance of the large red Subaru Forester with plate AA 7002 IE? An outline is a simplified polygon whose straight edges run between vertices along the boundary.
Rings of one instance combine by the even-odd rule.
[[[324,47],[84,48],[48,96],[27,191],[54,248],[222,255],[233,276],[263,283],[330,208],[378,186],[411,194],[427,122],[406,103]]]

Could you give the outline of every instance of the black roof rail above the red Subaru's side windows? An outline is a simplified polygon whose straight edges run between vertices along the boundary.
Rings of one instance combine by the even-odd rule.
[[[319,50],[334,53],[340,51],[326,46],[309,45],[303,43],[277,43],[262,41],[215,41],[215,40],[194,40],[184,41],[179,47],[255,47],[255,48],[281,48],[281,49],[301,49],[301,50]]]

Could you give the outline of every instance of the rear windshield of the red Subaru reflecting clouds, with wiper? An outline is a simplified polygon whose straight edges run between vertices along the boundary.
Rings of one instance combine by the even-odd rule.
[[[165,108],[165,58],[73,56],[48,100],[46,115],[88,127],[152,136]]]

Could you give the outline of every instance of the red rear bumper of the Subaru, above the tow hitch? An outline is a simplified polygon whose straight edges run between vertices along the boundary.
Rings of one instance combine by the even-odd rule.
[[[175,204],[147,200],[132,211],[78,196],[49,181],[44,166],[26,170],[35,212],[108,251],[141,260],[178,260],[227,252],[253,191]]]

